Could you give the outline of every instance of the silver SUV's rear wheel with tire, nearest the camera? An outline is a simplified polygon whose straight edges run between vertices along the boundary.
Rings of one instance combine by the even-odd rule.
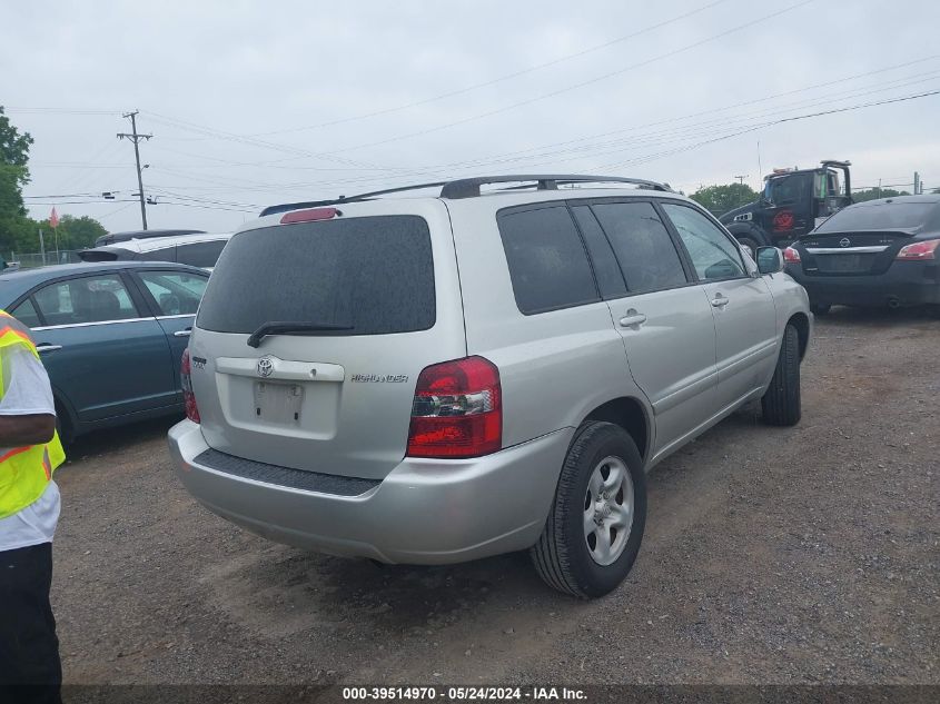
[[[603,596],[633,566],[645,525],[646,475],[636,444],[617,425],[590,422],[568,448],[532,559],[560,592]]]

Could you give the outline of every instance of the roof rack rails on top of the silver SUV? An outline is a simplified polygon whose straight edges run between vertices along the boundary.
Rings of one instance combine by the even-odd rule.
[[[448,198],[451,200],[458,200],[462,198],[477,198],[479,197],[479,187],[488,186],[491,184],[516,184],[534,181],[537,190],[557,190],[558,186],[570,186],[573,184],[631,184],[634,186],[642,186],[651,190],[662,190],[666,192],[675,192],[670,188],[669,184],[657,184],[656,181],[647,181],[642,178],[625,178],[621,176],[584,176],[584,175],[509,175],[509,176],[477,176],[475,178],[461,178],[453,181],[435,181],[433,184],[415,184],[414,186],[399,186],[398,188],[386,188],[384,190],[374,190],[367,194],[358,194],[356,196],[340,196],[339,198],[332,198],[329,200],[307,200],[303,202],[285,202],[277,206],[268,206],[260,212],[260,217],[266,215],[275,215],[277,212],[286,212],[288,210],[297,210],[298,208],[318,208],[321,206],[336,206],[344,202],[356,202],[360,200],[369,200],[376,196],[387,196],[389,194],[400,194],[408,190],[419,190],[422,188],[441,187],[441,198]],[[505,190],[516,190],[522,188],[531,188],[528,185],[512,186]]]

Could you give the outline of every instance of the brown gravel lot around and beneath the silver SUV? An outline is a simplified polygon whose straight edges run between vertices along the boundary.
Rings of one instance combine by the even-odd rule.
[[[194,503],[170,423],[79,443],[53,605],[69,683],[940,683],[940,323],[833,309],[803,420],[744,409],[653,470],[627,582],[524,555],[379,568]]]

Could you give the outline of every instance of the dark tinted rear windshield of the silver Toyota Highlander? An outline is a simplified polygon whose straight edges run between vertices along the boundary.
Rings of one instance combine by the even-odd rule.
[[[265,323],[352,326],[323,335],[434,326],[431,232],[417,216],[279,225],[241,232],[222,251],[197,325],[251,334]]]

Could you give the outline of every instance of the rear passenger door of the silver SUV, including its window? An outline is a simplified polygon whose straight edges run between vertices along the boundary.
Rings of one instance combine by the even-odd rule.
[[[654,454],[676,446],[716,412],[715,330],[708,301],[645,200],[573,206],[585,241],[605,238],[626,284],[607,300],[630,373],[656,416]],[[592,257],[597,256],[592,251]]]

